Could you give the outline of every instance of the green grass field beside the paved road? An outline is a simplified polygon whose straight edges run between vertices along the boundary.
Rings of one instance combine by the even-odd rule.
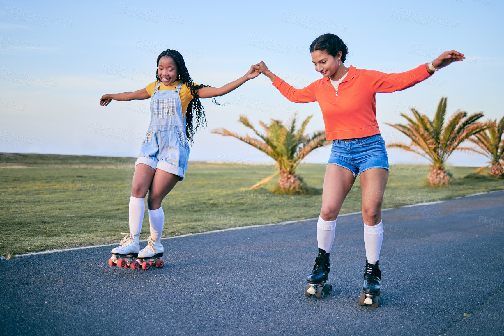
[[[118,242],[129,232],[128,203],[135,158],[0,153],[0,255]],[[190,162],[184,181],[163,201],[163,237],[230,227],[315,218],[322,204],[325,167],[302,164],[313,195],[242,190],[273,166]],[[504,189],[504,179],[463,178],[474,167],[449,167],[453,183],[429,188],[428,166],[396,165],[384,208]],[[273,183],[276,183],[274,180]],[[341,213],[360,211],[359,180]],[[146,211],[141,239],[149,235]]]

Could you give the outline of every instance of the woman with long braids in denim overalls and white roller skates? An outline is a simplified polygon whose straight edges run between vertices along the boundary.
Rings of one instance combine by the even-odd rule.
[[[184,179],[189,159],[189,144],[193,143],[198,127],[205,125],[205,109],[200,98],[225,95],[259,75],[250,68],[248,72],[220,88],[196,85],[189,75],[182,55],[176,50],[165,50],[157,59],[156,82],[146,88],[117,94],[103,95],[100,105],[107,106],[111,100],[129,101],[151,98],[151,121],[142,141],[138,160],[135,162],[133,188],[130,198],[130,233],[120,245],[112,249],[111,266],[139,267],[146,258],[157,260],[163,255],[160,241],[163,231],[163,198],[175,184]],[[215,101],[215,100],[214,100]],[[196,125],[195,125],[196,123]],[[149,211],[150,236],[148,245],[140,250],[139,236],[145,211],[145,196]],[[119,259],[118,259],[119,258]],[[162,266],[157,260],[156,265]],[[142,263],[144,269],[152,261]]]

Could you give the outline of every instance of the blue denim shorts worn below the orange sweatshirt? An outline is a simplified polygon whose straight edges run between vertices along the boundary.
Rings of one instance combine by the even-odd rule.
[[[327,164],[347,168],[353,176],[369,168],[384,168],[390,172],[385,141],[380,134],[358,139],[333,140]]]

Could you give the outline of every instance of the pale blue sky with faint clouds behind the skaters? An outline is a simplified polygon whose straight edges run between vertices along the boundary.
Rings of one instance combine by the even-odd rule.
[[[405,123],[400,113],[412,107],[432,118],[442,97],[448,97],[448,115],[459,109],[483,111],[484,120],[504,115],[504,6],[495,0],[0,3],[0,152],[136,157],[150,100],[100,106],[99,99],[154,82],[163,50],[180,51],[197,84],[220,87],[264,61],[302,88],[322,77],[308,47],[325,33],[343,39],[349,49],[345,65],[357,69],[396,73],[443,51],[466,55],[412,88],[376,94],[386,143],[409,140],[385,123]],[[256,126],[313,115],[307,131],[324,129],[317,102],[288,101],[264,75],[217,101],[228,104],[202,99],[208,127],[198,131],[190,160],[270,161],[237,139],[211,133],[218,127],[249,132],[237,123],[242,114]],[[329,155],[327,146],[304,162],[327,163]],[[391,165],[428,163],[398,149],[388,155]],[[448,163],[486,161],[459,152]]]

